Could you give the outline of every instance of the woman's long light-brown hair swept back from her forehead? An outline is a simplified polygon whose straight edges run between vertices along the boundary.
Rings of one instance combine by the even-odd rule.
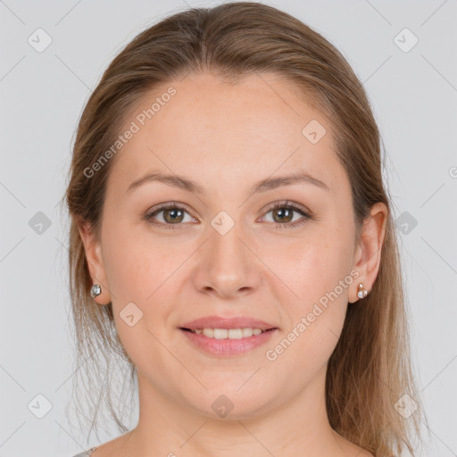
[[[104,71],[79,120],[65,197],[71,216],[77,367],[84,364],[89,377],[92,427],[103,398],[120,431],[127,431],[112,406],[113,355],[126,362],[132,381],[136,368],[120,344],[112,303],[100,306],[90,296],[92,279],[77,228],[78,221],[85,221],[100,235],[106,181],[116,157],[90,179],[84,170],[110,148],[146,93],[199,71],[212,71],[228,83],[262,73],[295,83],[334,132],[335,152],[351,183],[357,240],[371,205],[387,205],[378,278],[366,298],[348,305],[342,335],[328,361],[327,411],[337,433],[377,457],[400,455],[404,447],[417,455],[412,438],[420,438],[425,413],[413,375],[392,203],[382,179],[380,136],[370,103],[350,65],[328,40],[286,12],[251,2],[177,12],[137,35]],[[94,377],[104,385],[97,386]],[[407,419],[395,410],[404,394],[418,404]]]

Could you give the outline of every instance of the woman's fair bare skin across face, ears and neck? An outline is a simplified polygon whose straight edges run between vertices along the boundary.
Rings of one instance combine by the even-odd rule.
[[[377,277],[386,206],[372,207],[356,244],[350,183],[331,126],[278,76],[249,76],[233,86],[211,73],[188,75],[145,97],[126,125],[170,86],[177,94],[112,159],[100,239],[79,228],[92,278],[102,285],[96,302],[112,300],[139,387],[137,427],[93,456],[372,455],[330,427],[324,387],[348,302],[359,300],[360,282],[370,292]],[[315,145],[302,134],[313,119],[327,130]],[[207,194],[160,182],[127,192],[152,170],[193,179]],[[261,179],[297,170],[329,190],[297,183],[248,194]],[[283,200],[314,219],[287,228],[303,216],[293,212],[282,222],[270,205]],[[154,221],[175,229],[145,220],[169,202],[184,204],[184,218],[173,224],[160,212]],[[211,225],[221,211],[235,221],[225,235]],[[351,271],[359,277],[269,361],[266,351]],[[143,312],[133,327],[120,318],[131,302]],[[250,316],[279,329],[250,352],[212,356],[179,330],[210,314]],[[223,419],[212,409],[220,395],[234,405]]]

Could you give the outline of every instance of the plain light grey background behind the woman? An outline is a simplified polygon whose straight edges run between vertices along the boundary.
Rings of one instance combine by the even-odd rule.
[[[74,369],[68,221],[59,209],[87,97],[138,32],[187,4],[219,3],[0,1],[1,457],[71,456],[89,447],[64,415]],[[422,455],[455,456],[457,1],[268,4],[335,44],[370,97],[400,218],[413,357],[430,425]],[[38,41],[38,28],[52,38],[42,52],[28,42]],[[419,39],[408,52],[413,37],[395,38],[404,28]],[[37,395],[52,406],[42,419],[36,414],[46,400]],[[102,442],[115,436],[108,429]]]

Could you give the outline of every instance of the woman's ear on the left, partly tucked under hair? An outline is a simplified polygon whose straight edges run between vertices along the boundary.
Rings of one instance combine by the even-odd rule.
[[[80,221],[77,223],[77,226],[79,236],[84,245],[92,284],[99,284],[102,287],[102,293],[97,295],[94,300],[98,304],[108,304],[112,301],[112,298],[108,289],[108,281],[106,280],[102,246],[100,245],[99,240],[96,239],[96,236],[90,229],[90,224],[87,221]]]

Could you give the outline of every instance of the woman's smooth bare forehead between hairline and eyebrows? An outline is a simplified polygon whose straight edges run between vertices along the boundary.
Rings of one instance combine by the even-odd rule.
[[[201,182],[251,184],[306,170],[330,187],[344,179],[344,170],[328,120],[305,100],[298,87],[266,74],[237,84],[190,74],[155,87],[126,118],[125,129],[135,124],[137,131],[116,155],[109,180],[125,190],[154,169]],[[309,136],[313,130],[317,142]]]

